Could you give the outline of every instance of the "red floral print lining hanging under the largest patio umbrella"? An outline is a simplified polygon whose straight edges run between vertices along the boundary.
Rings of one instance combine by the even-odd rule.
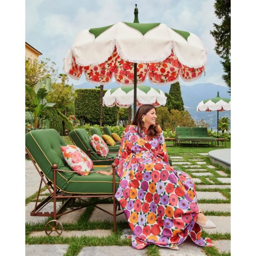
[[[95,84],[107,84],[111,82],[113,76],[120,85],[134,84],[134,63],[122,60],[116,48],[111,56],[99,65],[79,66],[73,56],[69,76],[79,79],[82,72],[85,73],[89,82]],[[183,65],[178,61],[174,52],[171,51],[168,58],[162,62],[137,63],[137,84],[144,82],[146,76],[154,84],[172,84],[178,81],[179,75],[184,81],[192,81],[199,78],[203,72],[204,67],[193,68]]]

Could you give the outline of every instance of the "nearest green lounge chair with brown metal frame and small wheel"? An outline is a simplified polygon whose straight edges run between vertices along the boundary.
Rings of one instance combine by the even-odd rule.
[[[26,152],[41,176],[35,208],[30,212],[30,215],[54,218],[46,223],[46,234],[49,235],[56,232],[60,235],[62,233],[63,226],[57,220],[59,216],[98,203],[89,203],[83,200],[83,198],[87,197],[100,197],[100,199],[103,197],[104,200],[113,199],[113,213],[100,209],[113,216],[114,232],[116,232],[116,216],[121,213],[116,214],[117,208],[114,195],[118,188],[119,177],[114,171],[115,164],[112,164],[110,168],[94,167],[88,176],[80,176],[72,171],[64,160],[61,146],[65,146],[66,143],[56,130],[32,130],[26,133],[25,136]],[[111,169],[113,169],[113,175],[110,176],[96,173],[96,171]],[[39,194],[43,183],[46,185],[50,195],[42,202],[39,202]],[[62,201],[62,205],[58,210],[56,208],[57,200]],[[84,202],[83,205],[75,208],[74,202],[76,200],[82,200]],[[51,201],[53,201],[53,211],[43,211],[44,206]],[[68,206],[71,210],[65,211]],[[99,207],[97,206],[97,208]]]

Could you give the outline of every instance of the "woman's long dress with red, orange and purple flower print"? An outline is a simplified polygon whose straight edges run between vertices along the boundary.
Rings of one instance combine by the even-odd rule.
[[[162,132],[149,139],[137,126],[127,126],[115,163],[120,178],[115,197],[133,232],[133,248],[150,243],[174,247],[188,236],[197,245],[212,246],[195,223],[200,213],[195,184],[187,173],[169,165]]]

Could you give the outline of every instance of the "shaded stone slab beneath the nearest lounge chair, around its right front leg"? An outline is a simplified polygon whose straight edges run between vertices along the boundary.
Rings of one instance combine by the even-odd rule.
[[[107,210],[110,213],[113,213],[113,204],[97,204],[97,206],[103,208],[104,210]],[[122,210],[117,210],[117,214],[121,213],[121,211]],[[104,213],[102,210],[95,207],[89,220],[97,221],[97,220],[104,220],[104,219],[113,221],[113,216],[111,216],[107,213]],[[117,221],[127,221],[127,220],[126,220],[125,215],[121,214],[121,215],[117,216]]]

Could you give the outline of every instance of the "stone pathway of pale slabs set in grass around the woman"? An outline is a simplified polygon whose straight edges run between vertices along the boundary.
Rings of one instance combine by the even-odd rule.
[[[225,171],[220,171],[213,165],[206,165],[206,159],[208,158],[208,153],[198,153],[198,154],[191,154],[191,153],[182,153],[180,155],[171,156],[173,161],[173,165],[180,165],[182,170],[188,171],[193,180],[195,181],[196,188],[201,190],[207,189],[230,189],[230,182],[231,178],[228,173]],[[185,160],[186,159],[186,160]],[[196,163],[196,165],[195,165]],[[207,169],[206,169],[207,168]],[[212,173],[213,171],[213,173]],[[216,173],[219,175],[217,180],[219,183],[215,184],[210,178],[213,177],[213,174],[216,176]],[[200,184],[202,181],[207,180],[212,184]],[[31,161],[26,161],[26,197],[33,195],[37,192],[39,187],[40,177],[35,169],[33,163]],[[45,193],[45,192],[44,192]],[[44,193],[41,193],[43,195]],[[208,192],[208,191],[197,191],[198,199],[204,200],[227,200],[227,198],[221,194],[221,192]],[[52,203],[48,204],[45,211],[52,210]],[[59,205],[60,206],[60,203]],[[108,211],[113,211],[112,204],[101,204],[100,207],[104,208]],[[227,203],[220,203],[220,204],[213,204],[213,203],[199,203],[199,208],[203,212],[228,212],[230,213],[230,204]],[[32,217],[30,216],[30,211],[33,210],[34,203],[30,202],[26,205],[26,223],[37,223],[43,222],[47,218],[46,217]],[[63,215],[59,218],[61,223],[76,223],[80,217],[80,215],[84,212],[85,209],[80,209],[78,211],[74,211],[67,215]],[[98,208],[95,208],[93,214],[90,217],[90,221],[104,221],[104,220],[112,220],[111,215],[102,214],[103,212]],[[212,233],[230,233],[230,216],[208,216],[210,220],[212,220],[217,228],[214,229],[204,229],[205,232],[208,234]],[[117,217],[117,221],[126,221],[124,214],[121,214]],[[66,237],[74,237],[74,236],[109,236],[111,234],[111,230],[85,230],[85,231],[65,231],[61,236]],[[131,235],[130,229],[123,230],[122,238],[129,237]],[[44,231],[40,232],[32,232],[30,236],[37,237],[37,236],[46,236]],[[213,245],[219,253],[228,253],[231,247],[230,240],[216,240],[213,241]],[[43,256],[43,255],[54,255],[54,256],[62,256],[67,252],[69,248],[68,244],[41,244],[41,245],[28,245],[26,244],[26,255],[29,256]],[[170,256],[170,255],[186,255],[186,256],[200,256],[206,255],[201,247],[195,245],[191,241],[191,239],[187,239],[179,245],[179,250],[174,251],[167,248],[159,247],[158,252],[161,256]],[[82,247],[78,256],[146,256],[146,248],[142,250],[134,250],[131,246],[91,246],[91,247]]]

